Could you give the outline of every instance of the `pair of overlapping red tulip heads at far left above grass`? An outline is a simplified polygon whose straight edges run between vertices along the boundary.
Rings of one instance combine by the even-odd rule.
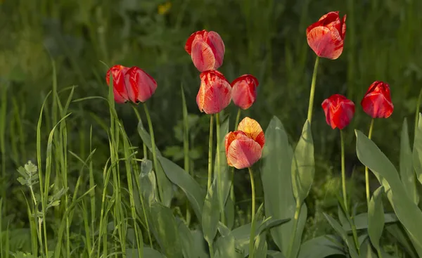
[[[157,89],[157,82],[139,67],[124,67],[114,65],[106,74],[106,82],[110,83],[110,73],[113,75],[113,93],[117,103],[145,102]]]

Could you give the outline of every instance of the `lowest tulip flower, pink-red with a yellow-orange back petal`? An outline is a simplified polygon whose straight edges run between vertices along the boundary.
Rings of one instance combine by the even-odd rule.
[[[229,166],[236,169],[251,167],[262,156],[264,131],[257,121],[245,117],[239,123],[238,131],[231,131],[226,135],[224,144]]]

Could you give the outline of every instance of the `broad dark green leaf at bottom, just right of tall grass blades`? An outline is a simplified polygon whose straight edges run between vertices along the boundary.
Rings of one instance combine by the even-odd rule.
[[[153,224],[155,239],[165,255],[168,258],[182,257],[179,231],[172,209],[155,202],[151,205],[150,219]]]

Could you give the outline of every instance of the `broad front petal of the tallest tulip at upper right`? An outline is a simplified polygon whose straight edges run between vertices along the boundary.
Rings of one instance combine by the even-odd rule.
[[[311,49],[321,58],[337,59],[343,52],[343,40],[337,30],[314,27],[307,34]]]

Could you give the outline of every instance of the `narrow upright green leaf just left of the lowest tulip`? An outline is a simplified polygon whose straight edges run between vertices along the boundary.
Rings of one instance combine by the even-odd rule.
[[[220,172],[221,178],[218,177],[217,169],[217,148],[215,150],[215,159],[214,159],[214,178],[217,179],[217,195],[219,199],[220,212],[224,212],[224,206],[226,204],[227,197],[229,196],[230,187],[231,187],[231,174],[229,172],[229,165],[227,165],[226,160],[226,147],[224,146],[224,141],[226,134],[229,133],[229,117],[220,124],[220,144],[219,144],[219,158],[220,158]],[[235,172],[236,173],[236,172]]]

